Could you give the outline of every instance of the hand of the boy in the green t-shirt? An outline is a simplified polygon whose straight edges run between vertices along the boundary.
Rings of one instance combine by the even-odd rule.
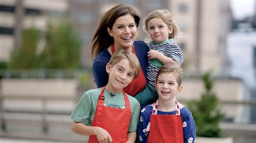
[[[104,128],[97,127],[96,137],[100,143],[112,143],[112,138]]]

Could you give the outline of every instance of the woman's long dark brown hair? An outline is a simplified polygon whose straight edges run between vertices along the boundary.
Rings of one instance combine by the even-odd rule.
[[[103,51],[104,48],[109,47],[114,42],[113,37],[111,37],[107,32],[107,27],[112,29],[112,26],[114,22],[116,22],[117,18],[128,14],[134,18],[134,22],[138,27],[140,17],[130,5],[118,4],[104,13],[92,38],[92,58],[94,58],[99,52]]]

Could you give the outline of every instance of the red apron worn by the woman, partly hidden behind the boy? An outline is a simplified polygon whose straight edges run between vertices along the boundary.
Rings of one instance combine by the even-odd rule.
[[[115,52],[114,45],[112,45],[111,51],[112,51],[112,54]],[[132,53],[136,55],[133,45],[132,45]],[[143,74],[142,67],[140,66],[139,76],[134,80],[132,80],[132,82],[127,87],[124,88],[124,91],[127,94],[134,96],[139,91],[142,91],[145,88],[145,86],[146,86],[146,78]]]

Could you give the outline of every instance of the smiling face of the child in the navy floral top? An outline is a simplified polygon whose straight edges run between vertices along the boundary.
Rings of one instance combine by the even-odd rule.
[[[173,100],[182,89],[183,86],[178,85],[177,77],[173,73],[163,73],[157,78],[156,90],[159,95],[159,99],[164,101]]]

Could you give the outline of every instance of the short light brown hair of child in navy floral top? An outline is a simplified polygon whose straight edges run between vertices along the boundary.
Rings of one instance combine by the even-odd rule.
[[[176,76],[176,80],[178,83],[178,86],[181,85],[182,82],[182,68],[180,66],[170,66],[170,65],[163,65],[157,73],[157,79],[160,74],[166,74],[166,73],[173,73]],[[156,80],[157,81],[157,80]]]

